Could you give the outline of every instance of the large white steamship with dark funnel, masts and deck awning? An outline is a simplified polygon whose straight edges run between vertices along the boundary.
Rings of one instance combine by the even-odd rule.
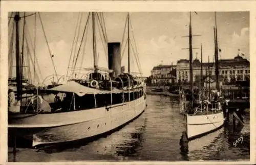
[[[136,119],[145,110],[145,84],[130,73],[130,15],[127,15],[128,73],[121,67],[120,42],[108,42],[108,69],[98,67],[95,26],[104,27],[102,13],[91,12],[93,30],[93,68],[79,68],[86,73],[79,74],[73,65],[71,76],[63,84],[51,88],[39,88],[33,92],[28,104],[20,104],[20,53],[16,46],[17,96],[8,107],[8,136],[29,140],[30,147],[38,148],[51,144],[73,142],[93,138],[113,131]],[[19,20],[24,17],[15,12],[16,45],[19,41]],[[98,18],[98,20],[96,20]],[[101,18],[101,19],[100,19]],[[13,25],[14,25],[13,24]],[[102,29],[102,34],[105,30]],[[105,37],[105,36],[104,36]],[[79,51],[79,50],[78,50]],[[78,56],[79,53],[77,53]],[[25,55],[24,55],[25,56]],[[52,58],[52,57],[51,57]],[[138,58],[138,57],[137,57]],[[15,143],[16,144],[16,143]]]

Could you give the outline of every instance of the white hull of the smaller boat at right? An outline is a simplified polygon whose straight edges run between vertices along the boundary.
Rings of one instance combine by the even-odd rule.
[[[207,115],[186,115],[187,137],[193,139],[211,131],[217,130],[224,123],[223,112]]]

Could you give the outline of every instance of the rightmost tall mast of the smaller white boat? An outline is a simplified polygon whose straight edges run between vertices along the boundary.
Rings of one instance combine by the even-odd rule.
[[[218,34],[217,34],[217,19],[215,12],[215,75],[216,75],[216,89],[219,91],[219,56],[218,56]]]

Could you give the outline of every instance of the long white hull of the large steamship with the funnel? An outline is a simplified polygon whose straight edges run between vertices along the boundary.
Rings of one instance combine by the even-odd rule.
[[[109,132],[133,120],[145,109],[144,96],[108,107],[37,114],[9,123],[9,129],[30,130],[32,146],[70,142]]]

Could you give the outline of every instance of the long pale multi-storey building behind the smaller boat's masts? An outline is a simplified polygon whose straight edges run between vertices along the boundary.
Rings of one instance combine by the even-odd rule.
[[[203,76],[215,75],[215,63],[202,63]],[[189,82],[189,61],[182,59],[177,62],[176,82]],[[201,62],[196,58],[193,61],[193,81],[196,76],[201,75]],[[223,78],[223,84],[239,80],[249,81],[250,79],[250,62],[241,56],[233,59],[219,60],[219,75]]]

